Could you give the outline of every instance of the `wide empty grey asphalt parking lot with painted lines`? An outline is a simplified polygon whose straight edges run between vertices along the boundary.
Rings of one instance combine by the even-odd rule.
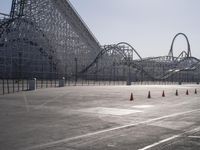
[[[197,150],[200,86],[71,86],[19,92],[0,96],[0,118],[2,150]]]

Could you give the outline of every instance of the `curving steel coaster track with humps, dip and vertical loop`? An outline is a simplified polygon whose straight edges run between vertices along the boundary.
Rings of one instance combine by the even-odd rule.
[[[182,51],[178,57],[174,57],[174,51],[173,51],[174,42],[176,38],[180,35],[185,37],[187,41],[188,50],[187,52]],[[123,51],[123,47],[127,47],[127,46],[129,47],[129,49],[126,51]],[[126,42],[120,42],[115,45],[104,46],[102,50],[99,52],[99,54],[97,55],[97,57],[92,61],[92,63],[89,64],[82,71],[80,71],[79,74],[83,74],[87,72],[92,66],[98,63],[99,59],[101,59],[109,51],[116,51],[117,53],[119,53],[121,57],[123,58],[123,61],[122,61],[123,64],[130,66],[132,68],[136,68],[137,70],[146,74],[152,80],[165,80],[165,79],[170,78],[172,75],[183,72],[183,71],[194,71],[200,66],[200,60],[191,56],[190,43],[187,36],[184,33],[178,33],[173,38],[169,54],[166,56],[142,58],[139,55],[139,53],[130,44]],[[134,59],[133,54],[136,54],[138,59]],[[156,63],[157,66],[170,65],[170,67],[168,67],[168,69],[165,70],[164,73],[158,76],[155,76],[153,75],[151,71],[144,69],[145,63],[149,63],[150,68],[151,68],[151,65],[153,66],[153,63]]]

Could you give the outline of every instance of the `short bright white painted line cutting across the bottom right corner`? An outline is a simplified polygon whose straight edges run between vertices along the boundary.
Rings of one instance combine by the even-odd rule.
[[[164,140],[161,140],[161,141],[159,141],[159,142],[153,143],[153,144],[151,144],[151,145],[148,145],[148,146],[146,146],[146,147],[144,147],[144,148],[141,148],[141,149],[138,149],[138,150],[148,150],[148,149],[153,148],[153,147],[156,147],[156,146],[158,146],[158,145],[160,145],[160,144],[163,144],[163,143],[166,143],[166,142],[171,141],[171,140],[173,140],[173,139],[179,138],[179,137],[181,137],[182,135],[184,135],[184,134],[186,134],[186,133],[192,133],[192,132],[196,132],[196,131],[199,131],[199,130],[200,130],[200,127],[197,127],[197,128],[195,128],[195,129],[192,129],[192,130],[189,130],[189,131],[185,131],[185,132],[183,132],[183,133],[181,133],[181,134],[178,134],[178,135],[174,135],[174,136],[172,136],[172,137],[169,137],[169,138],[167,138],[167,139],[164,139]]]

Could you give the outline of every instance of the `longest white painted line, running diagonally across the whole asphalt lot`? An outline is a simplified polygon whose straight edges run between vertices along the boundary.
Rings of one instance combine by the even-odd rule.
[[[86,138],[86,137],[90,137],[90,136],[94,136],[94,135],[98,135],[98,134],[102,134],[102,133],[106,133],[106,132],[110,132],[110,131],[130,128],[130,127],[138,126],[138,125],[141,125],[141,124],[147,124],[147,123],[151,123],[153,121],[158,121],[158,120],[162,120],[162,119],[166,119],[166,118],[170,118],[170,117],[175,117],[175,116],[184,115],[184,114],[190,114],[190,113],[197,112],[197,111],[200,111],[200,109],[175,113],[175,114],[171,114],[171,115],[167,115],[167,116],[163,116],[163,117],[158,117],[158,118],[154,118],[154,119],[150,119],[150,120],[147,120],[147,121],[142,121],[142,122],[138,122],[138,123],[134,123],[134,124],[128,124],[128,125],[124,125],[124,126],[111,128],[111,129],[105,129],[105,130],[87,133],[87,134],[84,134],[84,135],[79,135],[79,136],[75,136],[75,137],[71,137],[71,138],[65,138],[65,139],[61,139],[61,140],[57,140],[57,141],[53,141],[53,142],[29,147],[29,148],[26,148],[26,150],[34,150],[34,149],[38,149],[38,148],[50,147],[50,146],[53,146],[55,144],[66,143],[66,142],[81,139],[81,138]]]

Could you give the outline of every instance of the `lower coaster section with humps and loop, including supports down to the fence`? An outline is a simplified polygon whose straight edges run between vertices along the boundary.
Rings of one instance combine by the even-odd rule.
[[[182,51],[178,57],[174,56],[173,45],[178,36],[184,36],[187,41],[187,52]],[[151,81],[196,81],[199,77],[200,60],[191,56],[190,43],[184,33],[175,35],[169,54],[160,57],[142,58],[138,52],[128,43],[121,42],[116,45],[106,45],[99,52],[94,61],[84,68],[81,73],[87,72],[107,53],[117,52],[121,55],[118,66],[126,65],[133,69],[132,74],[138,74],[135,80],[151,80]],[[136,58],[133,58],[135,54]],[[94,69],[92,69],[94,70]],[[134,76],[134,75],[132,75]],[[140,76],[140,77],[139,77]],[[141,79],[142,78],[142,79]]]

